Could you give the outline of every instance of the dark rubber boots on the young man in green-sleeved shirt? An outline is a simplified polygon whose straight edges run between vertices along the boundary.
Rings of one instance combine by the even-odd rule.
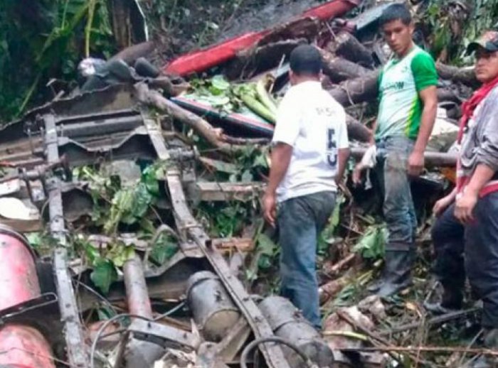
[[[385,276],[376,294],[386,298],[411,285],[411,267],[415,259],[414,249],[389,250],[384,258]]]

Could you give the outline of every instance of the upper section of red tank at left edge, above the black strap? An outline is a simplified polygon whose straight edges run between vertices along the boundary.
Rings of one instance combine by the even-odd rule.
[[[0,225],[0,310],[41,295],[35,256],[26,238]]]

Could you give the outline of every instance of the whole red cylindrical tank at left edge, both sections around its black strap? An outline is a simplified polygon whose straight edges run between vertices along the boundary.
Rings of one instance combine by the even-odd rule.
[[[41,295],[35,255],[28,241],[10,227],[0,225],[0,310]],[[0,328],[0,365],[55,368],[53,352],[35,328],[7,323]]]

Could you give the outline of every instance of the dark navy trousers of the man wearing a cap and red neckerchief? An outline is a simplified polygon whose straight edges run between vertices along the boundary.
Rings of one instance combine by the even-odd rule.
[[[472,224],[460,224],[454,211],[448,207],[433,227],[435,274],[454,288],[463,287],[467,274],[483,302],[483,327],[498,328],[498,193],[477,201]]]

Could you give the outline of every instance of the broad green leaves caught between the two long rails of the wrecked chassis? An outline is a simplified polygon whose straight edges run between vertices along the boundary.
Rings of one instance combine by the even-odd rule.
[[[93,198],[92,220],[96,227],[102,227],[111,239],[103,249],[97,249],[83,234],[72,239],[77,254],[83,254],[86,263],[92,267],[90,278],[102,293],[109,291],[112,282],[117,280],[117,269],[134,256],[134,246],[117,239],[120,226],[138,228],[139,234],[150,239],[156,231],[149,217],[155,217],[152,206],[159,197],[158,180],[164,177],[166,163],[157,162],[142,171],[138,183],[122,185],[117,176],[103,175],[96,168],[85,166],[76,168],[73,174],[78,180],[88,182]],[[169,234],[161,234],[152,244],[151,258],[157,264],[173,256],[178,251],[176,239]]]

